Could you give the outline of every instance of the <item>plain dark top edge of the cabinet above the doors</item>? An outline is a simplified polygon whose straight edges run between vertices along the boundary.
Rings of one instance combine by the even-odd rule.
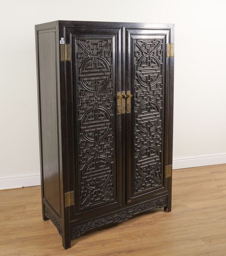
[[[171,29],[174,24],[165,23],[133,23],[133,22],[109,22],[109,21],[72,21],[72,20],[56,20],[48,23],[35,25],[36,29],[47,27],[80,27],[80,28],[122,28],[127,29]]]

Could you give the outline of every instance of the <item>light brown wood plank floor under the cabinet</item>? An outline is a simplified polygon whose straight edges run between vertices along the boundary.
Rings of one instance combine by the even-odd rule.
[[[39,186],[0,191],[0,255],[226,255],[226,164],[174,170],[172,212],[93,231],[69,250],[42,220],[40,194]]]

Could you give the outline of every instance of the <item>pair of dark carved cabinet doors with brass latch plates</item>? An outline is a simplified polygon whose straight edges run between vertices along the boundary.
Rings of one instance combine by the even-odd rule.
[[[133,26],[66,31],[71,221],[168,190],[170,29]]]

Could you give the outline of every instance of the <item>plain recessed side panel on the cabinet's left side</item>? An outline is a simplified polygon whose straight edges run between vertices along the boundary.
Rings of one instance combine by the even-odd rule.
[[[56,79],[56,31],[38,32],[44,198],[61,216]]]

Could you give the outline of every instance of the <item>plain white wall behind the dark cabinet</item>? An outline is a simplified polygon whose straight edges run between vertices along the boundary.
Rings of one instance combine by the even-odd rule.
[[[223,0],[2,2],[0,176],[40,170],[34,25],[52,20],[175,23],[173,155],[221,152],[214,159],[226,162],[225,9]]]

